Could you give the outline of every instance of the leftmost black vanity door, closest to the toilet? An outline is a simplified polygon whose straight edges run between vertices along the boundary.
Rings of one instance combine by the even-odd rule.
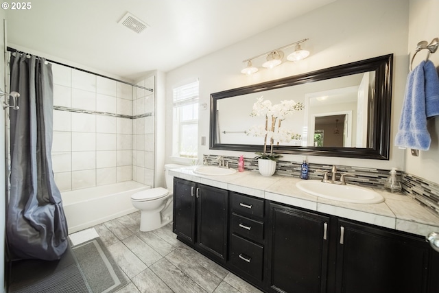
[[[174,178],[174,233],[195,242],[195,183]]]

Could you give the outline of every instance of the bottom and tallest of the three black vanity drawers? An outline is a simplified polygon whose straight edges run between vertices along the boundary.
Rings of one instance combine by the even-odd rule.
[[[232,234],[230,237],[230,264],[246,274],[262,280],[263,246]]]

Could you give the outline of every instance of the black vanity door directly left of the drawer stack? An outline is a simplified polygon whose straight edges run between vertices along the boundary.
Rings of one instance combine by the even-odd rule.
[[[228,191],[199,184],[197,197],[197,244],[219,260],[226,261]]]

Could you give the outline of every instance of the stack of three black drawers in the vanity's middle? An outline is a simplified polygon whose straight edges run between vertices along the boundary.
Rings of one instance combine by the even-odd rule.
[[[252,283],[263,281],[264,200],[230,192],[228,264]]]

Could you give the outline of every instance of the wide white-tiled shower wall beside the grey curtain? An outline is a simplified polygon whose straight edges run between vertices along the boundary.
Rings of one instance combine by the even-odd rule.
[[[53,65],[54,106],[132,115],[133,86]],[[61,191],[132,180],[132,121],[54,110],[52,161]]]

